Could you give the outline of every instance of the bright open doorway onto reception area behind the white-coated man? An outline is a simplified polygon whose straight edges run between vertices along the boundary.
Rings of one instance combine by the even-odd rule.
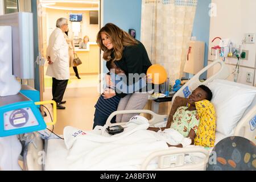
[[[62,134],[65,126],[91,130],[93,125],[94,105],[100,88],[100,48],[96,35],[100,30],[100,0],[94,1],[47,1],[38,3],[39,56],[46,57],[49,36],[56,28],[58,18],[67,18],[69,31],[73,32],[73,42],[77,56],[82,64],[77,67],[78,79],[71,67],[71,77],[64,94],[65,110],[57,110],[55,132]],[[86,48],[79,47],[84,36],[89,37]],[[41,59],[43,60],[43,59]],[[46,61],[47,62],[47,61]],[[48,63],[39,66],[41,100],[52,99],[52,78],[46,75]],[[51,109],[50,109],[51,110]]]

